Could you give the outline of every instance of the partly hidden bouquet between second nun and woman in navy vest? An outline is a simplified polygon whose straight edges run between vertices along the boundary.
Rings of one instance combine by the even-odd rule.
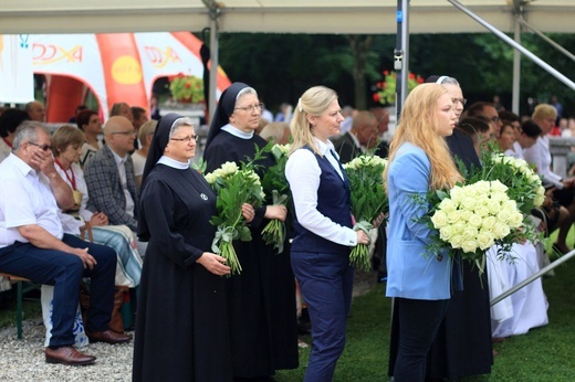
[[[273,145],[271,153],[275,158],[275,165],[269,167],[262,177],[262,188],[266,195],[272,195],[272,204],[290,206],[290,184],[285,178],[285,163],[290,145]],[[283,252],[283,243],[286,236],[285,223],[279,219],[272,219],[262,231],[265,244],[273,245],[278,253]]]

